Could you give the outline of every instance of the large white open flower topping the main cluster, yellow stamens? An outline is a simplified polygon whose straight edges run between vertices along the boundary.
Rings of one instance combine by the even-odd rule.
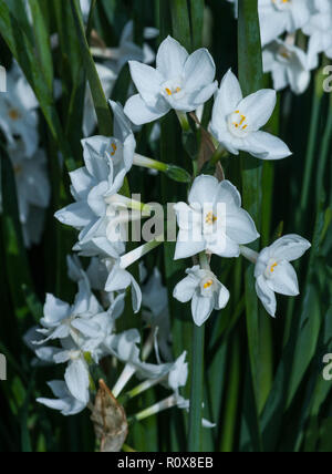
[[[215,62],[206,49],[193,54],[168,37],[159,47],[157,68],[132,61],[132,79],[138,94],[125,105],[125,113],[136,125],[153,122],[172,109],[193,112],[217,90]]]

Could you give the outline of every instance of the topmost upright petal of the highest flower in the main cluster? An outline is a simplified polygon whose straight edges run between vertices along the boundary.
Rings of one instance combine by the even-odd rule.
[[[166,80],[179,78],[188,56],[185,48],[168,37],[159,47],[156,59],[157,70]]]

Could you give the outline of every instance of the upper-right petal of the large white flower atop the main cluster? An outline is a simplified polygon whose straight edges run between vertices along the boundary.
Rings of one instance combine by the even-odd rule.
[[[206,49],[195,51],[186,61],[184,80],[186,92],[199,91],[214,82],[216,65]]]

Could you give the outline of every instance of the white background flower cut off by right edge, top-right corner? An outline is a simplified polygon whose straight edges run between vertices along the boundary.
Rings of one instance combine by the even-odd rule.
[[[310,69],[319,66],[319,54],[324,52],[332,59],[332,2],[331,0],[315,0],[318,12],[311,16],[303,32],[310,37],[308,55]]]

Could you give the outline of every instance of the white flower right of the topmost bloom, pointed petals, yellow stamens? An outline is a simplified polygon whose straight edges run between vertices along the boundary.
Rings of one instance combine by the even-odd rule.
[[[228,71],[214,105],[210,131],[235,155],[242,151],[261,159],[286,158],[291,155],[286,143],[260,131],[271,117],[276,103],[277,94],[271,89],[243,99],[239,81]]]

